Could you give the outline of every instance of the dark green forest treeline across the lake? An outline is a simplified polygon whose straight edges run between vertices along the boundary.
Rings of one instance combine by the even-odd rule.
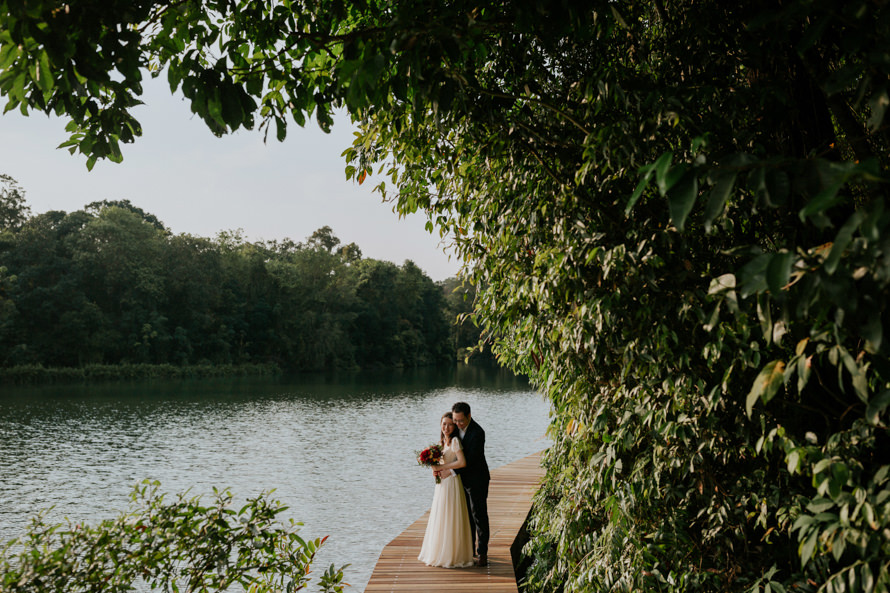
[[[305,242],[173,234],[127,200],[32,216],[2,184],[0,367],[421,366],[478,339],[455,323],[471,288],[363,258],[329,227]]]

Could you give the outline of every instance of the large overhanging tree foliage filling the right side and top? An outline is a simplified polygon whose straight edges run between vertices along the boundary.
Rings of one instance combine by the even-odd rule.
[[[218,134],[349,110],[553,404],[530,590],[890,589],[886,2],[0,4],[88,166],[146,72]]]

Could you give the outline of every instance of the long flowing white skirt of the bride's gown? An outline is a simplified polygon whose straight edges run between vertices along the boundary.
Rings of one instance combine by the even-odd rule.
[[[473,566],[470,514],[460,476],[452,474],[436,484],[430,519],[418,560],[428,566]]]

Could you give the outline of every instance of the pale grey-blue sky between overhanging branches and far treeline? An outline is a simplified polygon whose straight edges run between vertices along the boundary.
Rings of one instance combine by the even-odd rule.
[[[400,219],[371,188],[346,181],[340,154],[352,144],[348,118],[330,134],[313,121],[288,128],[267,144],[258,131],[216,138],[188,104],[170,95],[166,81],[146,81],[146,105],[133,113],[143,135],[122,145],[124,161],[99,161],[86,169],[83,155],[56,146],[67,140],[65,123],[18,110],[0,116],[0,173],[23,187],[32,214],[79,210],[97,200],[130,200],[157,216],[173,233],[214,237],[243,229],[247,240],[304,241],[330,226],[342,243],[356,243],[364,257],[401,265],[410,259],[433,280],[454,276],[438,231],[426,219]],[[6,99],[0,97],[0,110]]]

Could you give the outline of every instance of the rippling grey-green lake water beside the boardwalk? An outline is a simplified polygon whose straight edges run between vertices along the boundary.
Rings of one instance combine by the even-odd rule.
[[[456,401],[485,429],[492,468],[548,444],[549,404],[482,367],[0,387],[0,542],[49,507],[52,522],[111,518],[145,478],[208,501],[213,487],[240,500],[274,488],[304,538],[330,535],[314,572],[350,563],[361,591],[383,546],[429,508],[414,452]]]

